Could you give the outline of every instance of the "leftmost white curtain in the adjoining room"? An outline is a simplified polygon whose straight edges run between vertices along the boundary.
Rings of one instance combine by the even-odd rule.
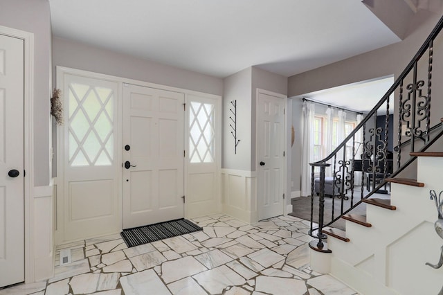
[[[301,171],[301,195],[303,197],[311,195],[311,166],[309,166],[309,163],[314,162],[314,153],[311,152],[311,149],[314,146],[314,116],[314,103],[305,100],[303,102],[303,142]]]

